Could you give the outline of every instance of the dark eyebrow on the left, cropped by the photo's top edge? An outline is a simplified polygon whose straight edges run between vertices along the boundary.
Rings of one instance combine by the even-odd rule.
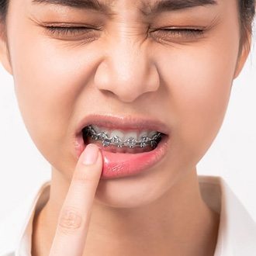
[[[108,6],[97,0],[33,0],[33,4],[62,5],[77,9],[93,9],[98,12],[107,12]]]

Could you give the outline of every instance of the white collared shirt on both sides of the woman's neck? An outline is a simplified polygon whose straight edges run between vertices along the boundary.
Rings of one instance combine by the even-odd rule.
[[[199,175],[199,186],[202,199],[220,213],[214,256],[256,256],[256,223],[223,178]],[[49,195],[50,181],[46,181],[0,223],[0,256],[31,255],[33,216]]]

